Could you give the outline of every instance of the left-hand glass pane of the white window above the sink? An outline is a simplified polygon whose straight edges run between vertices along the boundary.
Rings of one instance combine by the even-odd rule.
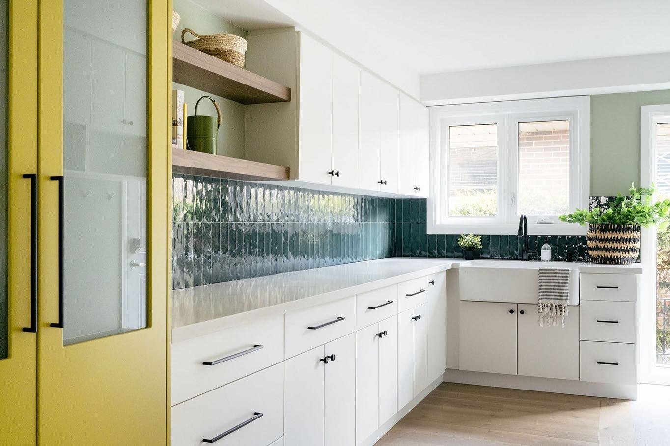
[[[449,215],[495,216],[498,210],[496,124],[449,127]]]

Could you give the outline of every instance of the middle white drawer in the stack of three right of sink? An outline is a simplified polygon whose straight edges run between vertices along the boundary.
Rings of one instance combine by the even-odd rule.
[[[581,339],[634,344],[635,305],[634,302],[582,301]]]

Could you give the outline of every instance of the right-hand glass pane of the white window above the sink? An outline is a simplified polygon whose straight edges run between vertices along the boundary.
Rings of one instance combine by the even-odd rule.
[[[519,123],[519,213],[559,215],[570,204],[570,121]]]

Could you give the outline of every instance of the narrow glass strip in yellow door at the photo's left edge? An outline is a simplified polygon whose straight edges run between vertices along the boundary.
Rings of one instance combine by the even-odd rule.
[[[7,1],[0,0],[0,359],[7,358]]]

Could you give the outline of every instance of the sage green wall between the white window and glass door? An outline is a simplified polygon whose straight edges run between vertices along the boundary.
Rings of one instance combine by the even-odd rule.
[[[670,90],[591,96],[591,195],[640,183],[640,106],[670,104]]]

